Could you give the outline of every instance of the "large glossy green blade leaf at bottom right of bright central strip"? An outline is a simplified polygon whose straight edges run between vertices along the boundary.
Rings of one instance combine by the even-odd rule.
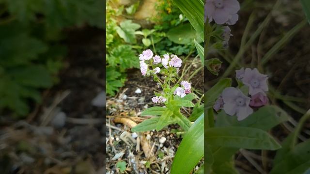
[[[189,128],[174,156],[171,174],[189,174],[203,157],[203,121],[200,116]],[[186,165],[185,165],[186,164]]]

